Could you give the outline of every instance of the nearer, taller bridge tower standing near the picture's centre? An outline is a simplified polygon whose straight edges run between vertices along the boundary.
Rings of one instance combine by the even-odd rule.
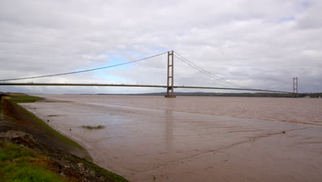
[[[173,91],[173,50],[171,52],[168,52],[167,94],[164,95],[164,97],[175,98],[175,94]]]

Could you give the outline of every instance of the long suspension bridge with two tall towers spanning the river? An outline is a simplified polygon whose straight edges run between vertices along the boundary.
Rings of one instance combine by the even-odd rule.
[[[126,65],[131,63],[136,63],[138,61],[144,61],[146,59],[150,59],[153,57],[158,57],[162,54],[167,54],[167,85],[131,85],[131,84],[99,84],[99,83],[14,83],[14,82],[6,82],[6,81],[17,81],[17,80],[24,80],[24,79],[37,79],[37,78],[44,78],[44,77],[56,77],[56,76],[62,76],[67,74],[78,74],[81,72],[90,72],[95,70],[103,70],[107,68],[117,67],[120,65]],[[213,79],[216,79],[218,81],[221,81],[223,83],[226,83],[230,86],[233,86],[235,88],[221,88],[221,87],[202,87],[202,86],[186,86],[186,85],[175,85],[174,84],[174,58],[186,63],[187,65],[190,65],[192,68],[202,72],[203,74],[206,74],[208,77],[211,77]],[[151,57],[145,57],[143,59],[138,59],[135,61],[129,61],[125,63],[119,63],[116,65],[109,65],[101,68],[94,68],[89,70],[81,70],[76,72],[65,72],[65,73],[59,73],[59,74],[48,74],[43,76],[36,76],[36,77],[23,77],[23,78],[14,78],[14,79],[1,79],[0,85],[32,85],[32,86],[101,86],[101,87],[141,87],[141,88],[166,88],[167,94],[165,94],[165,97],[169,98],[175,98],[175,88],[190,88],[190,89],[213,89],[213,90],[245,90],[245,91],[255,91],[255,92],[276,92],[276,93],[286,93],[286,94],[297,94],[297,79],[296,82],[294,82],[293,78],[293,92],[285,92],[285,91],[279,91],[279,90],[263,90],[263,89],[255,89],[255,88],[246,88],[242,85],[238,85],[236,83],[232,83],[230,81],[221,79],[217,77],[217,75],[212,74],[211,72],[208,72],[207,70],[204,70],[204,68],[201,68],[197,64],[195,64],[193,61],[189,61],[188,59],[182,57],[181,54],[175,51],[169,51],[169,52],[163,52],[160,54],[155,54]]]

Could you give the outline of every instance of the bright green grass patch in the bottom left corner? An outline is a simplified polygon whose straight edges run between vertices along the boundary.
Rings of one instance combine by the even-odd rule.
[[[0,181],[67,181],[49,168],[46,159],[34,151],[0,142]]]

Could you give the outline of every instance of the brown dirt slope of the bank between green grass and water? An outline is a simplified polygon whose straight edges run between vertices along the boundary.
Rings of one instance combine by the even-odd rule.
[[[10,97],[1,99],[0,141],[15,143],[44,156],[42,163],[47,163],[52,172],[67,181],[127,181],[89,162],[91,158],[81,145],[50,128]]]

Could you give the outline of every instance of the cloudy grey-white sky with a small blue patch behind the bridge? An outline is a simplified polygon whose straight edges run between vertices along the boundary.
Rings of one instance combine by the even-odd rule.
[[[322,1],[0,0],[0,79],[100,68],[175,50],[246,88],[322,92]],[[165,85],[167,55],[12,82]],[[175,85],[228,87],[175,58]],[[160,88],[0,86],[2,92],[142,93]],[[177,90],[180,92],[223,90]]]

